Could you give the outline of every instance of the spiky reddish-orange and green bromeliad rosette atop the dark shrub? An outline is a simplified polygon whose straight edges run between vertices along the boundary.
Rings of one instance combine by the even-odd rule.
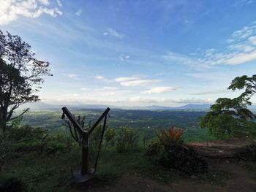
[[[183,128],[176,129],[175,126],[167,129],[160,129],[160,134],[157,133],[157,137],[159,139],[159,143],[163,146],[173,145],[173,144],[182,144],[182,134],[184,134],[186,130]]]

